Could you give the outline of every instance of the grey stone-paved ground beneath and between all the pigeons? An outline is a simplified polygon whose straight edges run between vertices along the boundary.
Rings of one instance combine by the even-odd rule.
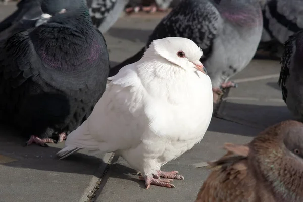
[[[0,20],[14,9],[12,3],[0,5]],[[159,21],[159,16],[120,18],[105,34],[112,64],[139,51]],[[209,174],[200,166],[223,155],[225,142],[246,143],[265,127],[292,118],[277,85],[279,70],[278,61],[252,60],[233,78],[239,87],[225,93],[203,141],[163,167],[185,177],[174,181],[175,189],[145,190],[135,171],[114,154],[87,156],[84,151],[59,161],[55,154],[63,143],[23,147],[26,139],[1,126],[0,202],[194,201]]]

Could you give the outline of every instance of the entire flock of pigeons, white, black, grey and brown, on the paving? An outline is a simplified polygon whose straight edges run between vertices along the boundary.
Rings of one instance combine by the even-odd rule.
[[[181,0],[137,54],[110,67],[103,34],[129,3],[21,0],[0,23],[0,119],[26,146],[65,140],[59,159],[115,152],[146,189],[175,187],[184,177],[162,166],[203,141],[215,97],[262,48],[281,58],[281,96],[303,118],[300,0]],[[303,123],[224,148],[196,202],[303,201]]]

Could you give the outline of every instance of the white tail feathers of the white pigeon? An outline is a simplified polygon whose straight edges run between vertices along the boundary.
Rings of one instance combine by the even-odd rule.
[[[90,154],[95,154],[96,151],[99,151],[99,143],[89,134],[87,120],[67,136],[65,148],[58,151],[57,155],[61,160],[80,149],[92,150]]]

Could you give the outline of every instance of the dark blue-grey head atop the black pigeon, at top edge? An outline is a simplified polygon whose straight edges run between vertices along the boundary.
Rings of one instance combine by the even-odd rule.
[[[69,12],[85,6],[84,0],[43,0],[41,9],[43,13],[55,15],[57,13]]]

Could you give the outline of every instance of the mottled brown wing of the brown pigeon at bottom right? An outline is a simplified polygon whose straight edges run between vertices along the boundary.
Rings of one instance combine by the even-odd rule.
[[[196,202],[255,201],[256,180],[246,157],[228,151],[212,166],[214,171],[203,183]]]

